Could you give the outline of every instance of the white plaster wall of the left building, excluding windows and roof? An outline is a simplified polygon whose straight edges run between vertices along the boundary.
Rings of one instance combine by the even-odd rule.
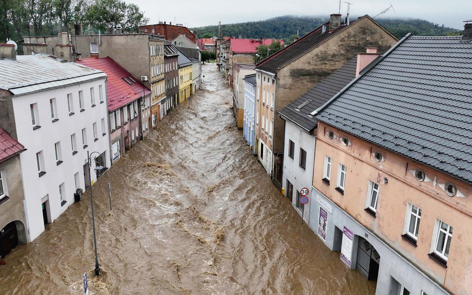
[[[106,89],[105,78],[78,85],[70,85],[57,89],[13,97],[15,126],[18,141],[27,149],[20,154],[21,171],[23,175],[26,219],[29,224],[29,240],[34,240],[44,231],[41,209],[42,199],[49,200],[49,222],[56,219],[67,207],[74,202],[76,185],[74,174],[78,173],[79,188],[85,190],[84,165],[87,162],[87,151],[105,152],[105,167],[110,167],[110,138],[108,104],[104,95],[104,103],[91,107],[90,88],[95,89],[96,101],[99,99],[99,85]],[[83,91],[85,110],[80,111],[78,92]],[[69,115],[67,94],[74,98],[73,115]],[[56,98],[58,121],[52,122],[50,98]],[[98,102],[98,101],[97,101]],[[40,128],[33,130],[31,124],[30,104],[37,103],[38,122]],[[102,119],[105,125],[102,127]],[[97,140],[94,140],[93,123],[97,123]],[[82,144],[82,129],[86,128],[87,147]],[[106,130],[102,134],[102,128]],[[73,154],[71,135],[76,134],[77,153]],[[55,143],[60,142],[62,163],[56,163]],[[43,152],[44,172],[38,176],[36,153]],[[98,156],[94,154],[93,156]],[[93,173],[95,163],[92,163],[92,184],[97,180]],[[64,183],[63,194],[65,204],[61,205],[59,185]],[[46,197],[47,196],[47,197]]]

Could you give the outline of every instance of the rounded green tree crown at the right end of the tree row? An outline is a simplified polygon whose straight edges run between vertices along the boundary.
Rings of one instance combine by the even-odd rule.
[[[123,30],[136,30],[149,20],[138,5],[123,0],[96,0],[85,18],[98,29],[121,27]]]

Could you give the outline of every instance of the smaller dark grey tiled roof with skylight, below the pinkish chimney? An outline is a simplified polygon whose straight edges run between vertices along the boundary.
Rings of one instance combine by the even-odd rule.
[[[356,61],[357,57],[352,58],[312,89],[282,108],[279,114],[307,131],[313,130],[318,121],[310,113],[325,104],[349,82],[354,80]],[[307,103],[304,104],[305,102]],[[299,108],[300,105],[304,106]]]

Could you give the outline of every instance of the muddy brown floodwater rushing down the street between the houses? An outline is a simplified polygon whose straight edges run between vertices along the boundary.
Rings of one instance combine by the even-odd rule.
[[[235,126],[214,64],[179,105],[93,187],[0,266],[1,295],[364,295],[349,270],[272,185]],[[108,200],[112,184],[112,206]]]

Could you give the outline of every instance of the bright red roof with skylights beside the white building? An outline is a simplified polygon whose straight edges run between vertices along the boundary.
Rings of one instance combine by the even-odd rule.
[[[144,96],[151,93],[151,91],[142,85],[138,79],[131,76],[131,74],[126,72],[125,69],[121,68],[110,57],[84,58],[77,62],[97,70],[102,70],[108,75],[107,97],[109,111],[114,111],[121,106],[142,97],[143,89]],[[131,77],[131,79],[135,82],[131,81],[127,77]],[[131,85],[126,83],[122,78],[126,78],[131,83]]]

